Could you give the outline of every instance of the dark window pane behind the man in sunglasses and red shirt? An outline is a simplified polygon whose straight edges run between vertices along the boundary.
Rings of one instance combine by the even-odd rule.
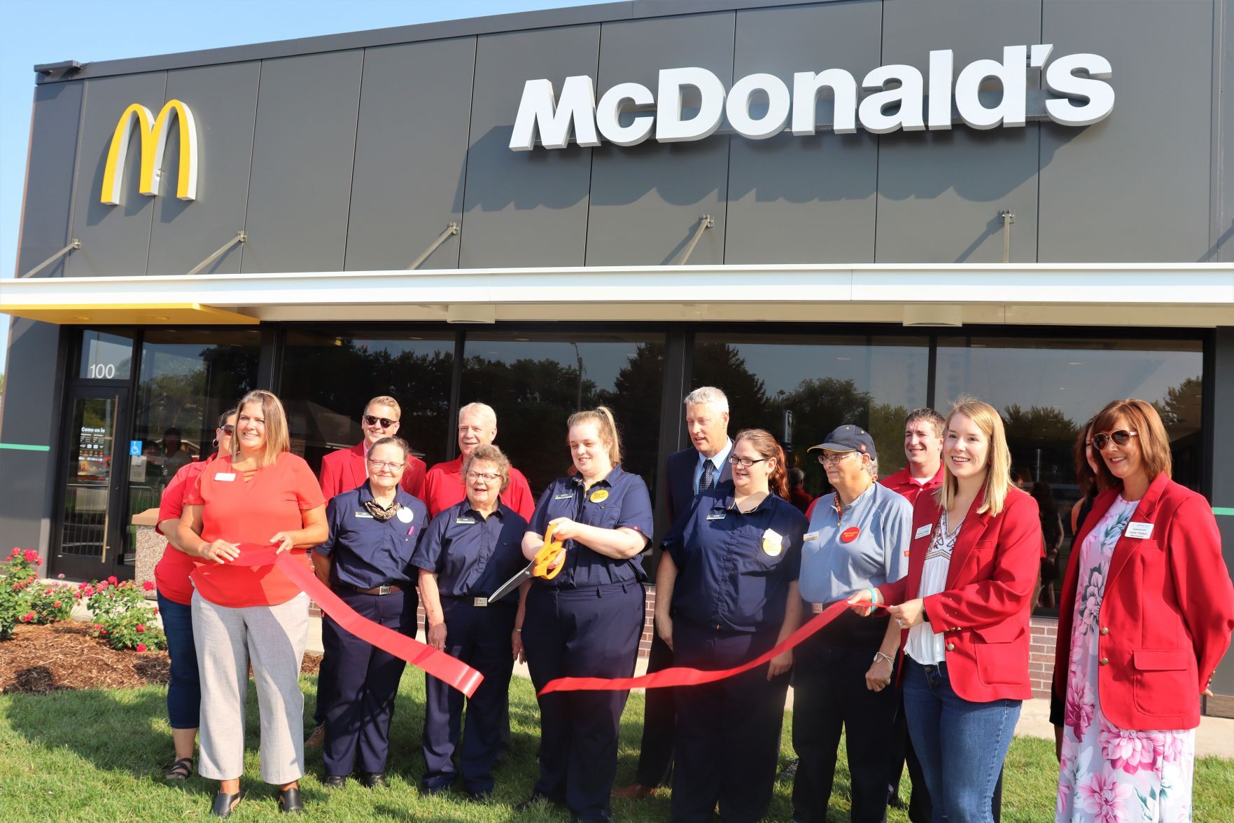
[[[328,452],[363,440],[364,404],[389,394],[402,409],[399,436],[432,466],[445,458],[454,430],[447,420],[453,369],[453,332],[291,330],[280,382],[291,450],[318,472]]]

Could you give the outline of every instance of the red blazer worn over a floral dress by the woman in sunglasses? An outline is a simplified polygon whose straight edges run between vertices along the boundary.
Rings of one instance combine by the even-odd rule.
[[[1118,493],[1107,489],[1093,500],[1072,544],[1059,601],[1059,696],[1067,693],[1080,546]],[[1157,475],[1130,523],[1150,523],[1153,533],[1141,539],[1123,533],[1114,545],[1098,614],[1104,665],[1098,667],[1097,699],[1122,729],[1193,729],[1199,725],[1199,692],[1234,629],[1234,586],[1217,518],[1203,497]]]

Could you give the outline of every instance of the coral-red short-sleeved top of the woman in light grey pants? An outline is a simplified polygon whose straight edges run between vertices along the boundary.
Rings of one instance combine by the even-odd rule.
[[[326,498],[308,463],[285,451],[247,481],[232,467],[231,457],[211,461],[184,504],[202,507],[202,540],[268,546],[275,533],[304,528],[302,513],[325,505]],[[291,554],[308,566],[304,549]],[[232,566],[197,557],[194,562],[190,577],[197,594],[216,606],[278,606],[300,593],[274,566]]]

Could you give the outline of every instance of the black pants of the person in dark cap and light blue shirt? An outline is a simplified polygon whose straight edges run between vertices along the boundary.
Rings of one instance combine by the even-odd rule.
[[[793,652],[795,821],[827,821],[842,730],[847,732],[853,786],[850,819],[879,822],[886,817],[887,741],[900,708],[900,690],[888,686],[875,692],[865,685],[886,628],[887,618],[845,612]]]

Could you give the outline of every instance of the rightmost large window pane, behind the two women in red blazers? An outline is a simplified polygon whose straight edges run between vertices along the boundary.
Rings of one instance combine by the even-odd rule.
[[[1161,413],[1174,450],[1174,478],[1201,482],[1201,374],[1198,340],[1081,340],[942,337],[935,397],[940,409],[961,394],[986,400],[1003,415],[1016,476],[1025,491],[1049,486],[1062,520],[1056,568],[1071,550],[1071,509],[1079,499],[1072,449],[1088,418],[1119,398],[1140,398]],[[1041,603],[1056,609],[1060,585],[1043,568]]]

